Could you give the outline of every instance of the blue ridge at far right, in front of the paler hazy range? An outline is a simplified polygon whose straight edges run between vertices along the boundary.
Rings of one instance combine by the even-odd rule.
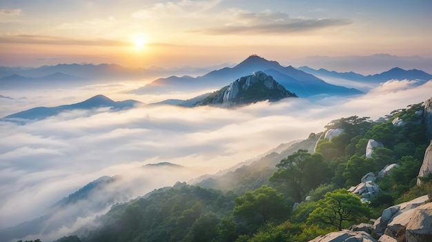
[[[302,66],[297,68],[306,73],[313,74],[318,77],[333,77],[339,79],[346,79],[351,81],[358,81],[362,83],[382,83],[389,80],[418,80],[426,82],[432,79],[432,74],[426,73],[422,70],[404,70],[402,68],[392,68],[386,72],[379,74],[367,75],[358,74],[355,72],[335,72],[329,71],[324,68],[315,70],[313,68],[308,68],[307,66]]]

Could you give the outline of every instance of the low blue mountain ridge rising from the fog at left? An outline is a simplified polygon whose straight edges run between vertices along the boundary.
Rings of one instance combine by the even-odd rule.
[[[57,107],[37,107],[31,108],[29,110],[25,110],[22,112],[17,112],[14,114],[10,114],[3,119],[45,119],[47,117],[55,116],[60,112],[64,112],[66,110],[77,110],[77,109],[85,109],[89,110],[92,108],[106,108],[110,107],[112,110],[123,110],[126,108],[132,108],[134,105],[137,105],[141,102],[135,100],[125,100],[125,101],[112,101],[108,97],[104,95],[96,95],[86,101],[82,101],[81,103],[74,103],[70,105],[60,105]]]

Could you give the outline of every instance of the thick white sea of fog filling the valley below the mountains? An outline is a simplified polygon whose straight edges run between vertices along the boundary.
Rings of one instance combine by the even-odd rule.
[[[37,105],[76,103],[95,94],[144,103],[195,95],[127,94],[135,85],[2,91],[5,96],[27,99],[1,100],[1,116]],[[415,81],[388,81],[357,97],[321,97],[317,101],[291,98],[235,110],[143,105],[120,112],[107,108],[72,110],[25,125],[0,121],[0,228],[45,214],[59,199],[105,175],[119,175],[110,189],[120,193],[116,201],[128,201],[176,181],[229,168],[280,143],[306,139],[311,132],[324,131],[324,125],[333,119],[352,115],[378,119],[392,110],[425,101],[431,94],[432,81],[421,86]],[[142,168],[166,161],[185,168]],[[92,194],[93,199],[106,196],[104,192]],[[77,208],[91,208],[90,204],[84,201],[52,219],[61,221]],[[45,237],[63,236],[95,215],[88,212]]]

